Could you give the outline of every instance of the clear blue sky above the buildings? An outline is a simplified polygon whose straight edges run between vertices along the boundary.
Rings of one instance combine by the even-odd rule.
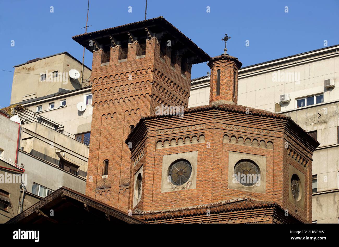
[[[324,40],[328,46],[339,44],[338,11],[338,0],[148,0],[147,18],[164,16],[210,56],[223,52],[221,38],[227,33],[228,54],[247,66],[323,48]],[[71,37],[84,33],[86,13],[87,0],[0,0],[0,69],[14,71],[14,65],[64,51],[81,61],[83,48]],[[140,21],[144,13],[144,0],[90,0],[87,32]],[[87,50],[85,64],[92,67]],[[206,63],[194,65],[192,78],[209,70]],[[0,106],[5,107],[13,73],[0,70],[0,76]]]

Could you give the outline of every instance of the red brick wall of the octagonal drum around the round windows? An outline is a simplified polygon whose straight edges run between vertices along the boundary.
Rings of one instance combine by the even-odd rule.
[[[288,121],[253,115],[225,113],[220,111],[196,112],[178,117],[144,120],[138,126],[136,136],[132,140],[139,143],[132,148],[132,157],[143,148],[145,155],[142,161],[133,166],[136,172],[143,165],[143,184],[141,202],[133,208],[137,211],[154,211],[214,203],[237,197],[250,197],[259,201],[274,201],[297,214],[304,222],[310,222],[312,213],[312,151],[307,142],[300,143],[293,133],[288,131]],[[140,127],[140,128],[139,128]],[[147,133],[147,135],[146,135]],[[159,140],[176,141],[179,137],[204,135],[204,143],[156,148]],[[235,136],[243,144],[223,142],[223,136]],[[287,137],[288,136],[288,137]],[[291,139],[294,138],[294,139]],[[239,139],[240,138],[240,139]],[[242,139],[241,139],[242,138]],[[245,139],[257,140],[250,146]],[[300,138],[302,140],[302,138]],[[260,143],[263,142],[263,145]],[[288,156],[285,143],[298,143],[299,152],[304,153],[308,166]],[[272,148],[267,148],[272,143]],[[207,145],[210,145],[208,148]],[[291,147],[291,145],[290,145]],[[297,149],[296,149],[297,150]],[[302,151],[301,151],[302,150]],[[198,151],[197,184],[195,189],[161,192],[162,159],[164,155]],[[265,193],[249,192],[228,188],[228,153],[229,151],[253,154],[266,157],[266,190]],[[287,158],[289,160],[287,160]],[[301,209],[288,200],[288,166],[292,164],[305,176],[305,207]],[[131,172],[131,174],[133,174]],[[306,183],[306,181],[308,181]],[[134,185],[131,184],[131,198]],[[297,210],[297,212],[295,211]]]

